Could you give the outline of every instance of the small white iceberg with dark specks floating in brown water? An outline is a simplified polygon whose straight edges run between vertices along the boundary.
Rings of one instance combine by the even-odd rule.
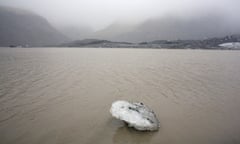
[[[120,119],[140,131],[155,131],[160,127],[155,113],[143,103],[130,103],[127,101],[116,101],[112,103],[110,113],[113,117]]]

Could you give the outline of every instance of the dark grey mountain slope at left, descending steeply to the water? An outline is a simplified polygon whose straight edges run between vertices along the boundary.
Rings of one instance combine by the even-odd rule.
[[[0,19],[0,46],[44,46],[68,40],[46,19],[26,10],[0,6]]]

